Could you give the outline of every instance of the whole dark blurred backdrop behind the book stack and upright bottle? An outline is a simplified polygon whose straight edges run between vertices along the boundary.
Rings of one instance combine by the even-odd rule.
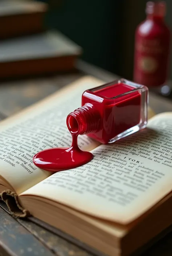
[[[45,24],[81,45],[83,60],[132,80],[135,30],[146,18],[147,0],[44,2],[49,3]],[[172,1],[165,2],[165,22],[172,29]]]

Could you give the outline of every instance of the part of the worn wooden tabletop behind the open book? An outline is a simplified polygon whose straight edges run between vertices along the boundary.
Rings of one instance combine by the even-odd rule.
[[[93,75],[105,82],[110,82],[118,78],[114,74],[82,61],[79,61],[77,66],[80,70],[75,73],[0,82],[0,112],[7,116],[15,114],[24,107],[45,98],[86,74]],[[172,101],[153,93],[150,93],[150,106],[155,113],[172,111]]]

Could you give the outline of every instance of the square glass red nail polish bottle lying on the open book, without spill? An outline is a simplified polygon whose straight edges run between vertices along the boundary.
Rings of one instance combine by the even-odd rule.
[[[67,115],[71,134],[112,143],[146,127],[148,88],[120,79],[86,90],[82,107]]]

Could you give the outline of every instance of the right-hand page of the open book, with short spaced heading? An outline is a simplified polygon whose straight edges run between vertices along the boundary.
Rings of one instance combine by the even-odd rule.
[[[99,218],[129,223],[172,190],[172,113],[100,145],[84,166],[57,172],[22,195],[38,195]],[[47,192],[48,191],[48,192]]]

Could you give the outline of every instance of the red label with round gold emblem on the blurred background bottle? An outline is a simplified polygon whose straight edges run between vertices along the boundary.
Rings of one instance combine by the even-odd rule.
[[[147,86],[165,82],[168,68],[169,42],[167,38],[143,38],[135,43],[134,81]]]

